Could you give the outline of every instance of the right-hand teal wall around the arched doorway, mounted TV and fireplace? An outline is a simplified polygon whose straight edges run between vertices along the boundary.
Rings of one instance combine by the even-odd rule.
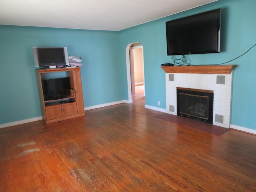
[[[146,105],[166,108],[165,72],[159,67],[165,62],[172,62],[166,51],[166,21],[221,8],[221,53],[188,56],[194,65],[219,64],[240,56],[256,44],[255,7],[255,0],[219,0],[122,30],[122,63],[125,63],[124,50],[129,43],[141,42],[143,46]],[[255,52],[256,46],[244,56],[227,63],[238,65],[233,78],[231,124],[254,130]],[[161,106],[158,106],[158,101]]]

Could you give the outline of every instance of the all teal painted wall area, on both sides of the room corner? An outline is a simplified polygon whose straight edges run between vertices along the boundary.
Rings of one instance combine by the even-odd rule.
[[[218,64],[236,58],[256,43],[255,7],[255,0],[218,0],[120,32],[0,26],[0,124],[41,116],[33,46],[67,46],[70,55],[83,58],[84,106],[88,107],[128,100],[125,51],[129,43],[141,42],[146,105],[165,109],[165,73],[159,66],[172,62],[166,53],[165,22],[221,8],[221,53],[189,56],[192,64]],[[231,124],[254,130],[255,52],[256,46],[228,63],[238,64]]]

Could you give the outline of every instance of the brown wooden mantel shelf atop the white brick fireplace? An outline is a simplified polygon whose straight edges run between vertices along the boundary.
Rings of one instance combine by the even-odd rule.
[[[161,66],[166,73],[230,74],[237,65]]]

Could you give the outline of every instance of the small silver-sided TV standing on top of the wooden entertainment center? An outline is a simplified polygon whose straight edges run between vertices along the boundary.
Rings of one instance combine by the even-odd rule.
[[[36,67],[56,68],[68,66],[67,47],[33,47]]]

